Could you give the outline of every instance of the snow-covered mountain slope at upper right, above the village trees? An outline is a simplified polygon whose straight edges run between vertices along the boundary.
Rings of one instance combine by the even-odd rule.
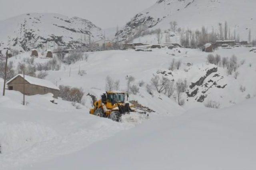
[[[156,4],[136,14],[116,34],[120,40],[135,34],[139,26],[162,30],[170,29],[170,22],[176,21],[177,28],[201,29],[206,26],[218,32],[218,24],[228,22],[231,34],[248,40],[249,29],[252,38],[256,36],[255,0],[158,0]],[[246,12],[245,12],[246,11]]]

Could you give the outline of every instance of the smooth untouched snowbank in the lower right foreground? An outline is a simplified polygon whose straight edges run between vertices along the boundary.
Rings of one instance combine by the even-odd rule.
[[[152,118],[74,154],[24,169],[255,169],[255,102]]]

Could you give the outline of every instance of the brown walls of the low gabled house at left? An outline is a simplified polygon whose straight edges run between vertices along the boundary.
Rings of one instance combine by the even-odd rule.
[[[23,78],[18,76],[8,84],[8,89],[10,89],[10,86],[12,86],[13,87],[12,90],[19,91],[23,94],[23,80],[24,80]],[[37,86],[34,84],[29,84],[25,80],[25,95],[31,96],[35,94],[48,94],[48,93],[52,93],[54,98],[58,98],[59,90],[47,88],[43,86]]]

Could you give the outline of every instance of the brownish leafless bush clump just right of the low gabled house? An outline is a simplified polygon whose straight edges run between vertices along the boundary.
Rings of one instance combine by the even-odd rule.
[[[84,96],[82,88],[70,88],[70,86],[63,85],[60,85],[59,88],[59,97],[62,100],[81,103],[82,97]]]

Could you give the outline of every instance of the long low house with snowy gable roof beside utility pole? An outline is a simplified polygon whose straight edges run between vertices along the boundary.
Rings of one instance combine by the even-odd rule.
[[[8,90],[16,90],[23,94],[24,78],[22,74],[14,76],[6,84],[8,85]],[[57,86],[48,80],[25,75],[25,95],[52,93],[54,98],[58,98],[59,90]]]

